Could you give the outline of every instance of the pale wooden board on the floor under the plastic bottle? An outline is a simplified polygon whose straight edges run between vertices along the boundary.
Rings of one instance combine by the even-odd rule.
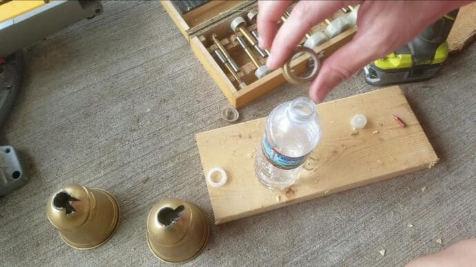
[[[297,182],[284,191],[266,189],[255,178],[255,154],[266,118],[197,133],[204,173],[212,167],[228,173],[224,186],[207,185],[216,224],[433,167],[438,161],[398,86],[322,103],[317,109],[323,138]],[[350,135],[354,114],[365,114],[368,125]],[[399,127],[392,114],[406,127]]]

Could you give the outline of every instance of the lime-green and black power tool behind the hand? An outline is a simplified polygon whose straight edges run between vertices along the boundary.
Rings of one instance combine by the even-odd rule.
[[[370,85],[408,83],[432,78],[448,57],[446,38],[459,9],[428,26],[407,45],[364,67]]]

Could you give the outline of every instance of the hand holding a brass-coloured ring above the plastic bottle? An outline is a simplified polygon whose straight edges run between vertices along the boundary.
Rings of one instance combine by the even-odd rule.
[[[357,34],[321,64],[310,85],[310,98],[321,102],[328,92],[362,67],[395,51],[444,14],[470,2],[301,0],[278,29],[277,23],[292,1],[259,1],[259,46],[271,50],[266,65],[275,70],[286,62],[314,25],[331,17],[339,8],[360,3]]]

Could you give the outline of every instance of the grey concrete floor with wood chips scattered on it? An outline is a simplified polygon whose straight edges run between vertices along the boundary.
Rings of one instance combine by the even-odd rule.
[[[194,133],[228,125],[226,98],[158,1],[103,6],[26,51],[1,142],[23,153],[30,181],[0,199],[3,266],[160,264],[146,244],[146,217],[163,197],[197,203],[212,222]],[[433,169],[212,225],[190,265],[401,266],[475,237],[475,62],[473,44],[437,78],[401,86],[441,158]],[[360,74],[328,99],[373,89]],[[279,87],[241,120],[306,94],[306,86]],[[95,250],[69,248],[46,219],[50,193],[71,182],[121,202],[116,235]]]

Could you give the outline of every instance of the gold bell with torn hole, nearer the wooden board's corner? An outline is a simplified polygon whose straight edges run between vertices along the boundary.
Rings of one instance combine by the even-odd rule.
[[[209,232],[204,211],[176,198],[155,204],[147,218],[149,248],[168,263],[184,263],[197,257],[208,242]]]

